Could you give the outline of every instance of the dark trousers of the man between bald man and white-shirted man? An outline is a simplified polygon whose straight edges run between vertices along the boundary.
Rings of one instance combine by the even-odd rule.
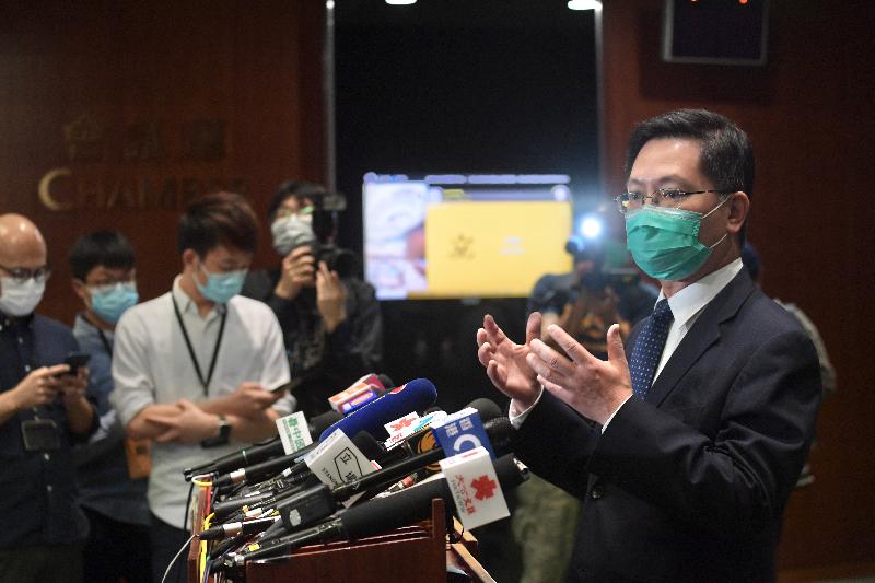
[[[88,583],[149,583],[152,581],[149,527],[115,521],[83,508],[91,532],[85,543]]]

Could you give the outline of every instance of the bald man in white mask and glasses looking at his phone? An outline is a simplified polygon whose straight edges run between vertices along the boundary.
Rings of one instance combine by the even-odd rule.
[[[49,268],[36,225],[0,215],[0,582],[81,581],[88,525],[74,502],[70,443],[96,427],[79,346],[34,314]]]

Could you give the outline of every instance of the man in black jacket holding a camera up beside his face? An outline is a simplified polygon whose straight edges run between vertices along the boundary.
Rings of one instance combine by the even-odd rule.
[[[313,183],[283,183],[268,208],[279,268],[250,271],[243,295],[277,315],[299,410],[325,412],[328,397],[378,372],[383,319],[360,259],[335,246],[339,195]]]

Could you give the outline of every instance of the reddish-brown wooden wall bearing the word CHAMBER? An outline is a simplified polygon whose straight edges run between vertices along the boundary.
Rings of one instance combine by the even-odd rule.
[[[72,322],[66,254],[86,231],[126,233],[153,298],[179,269],[187,200],[231,188],[262,214],[281,180],[322,179],[322,19],[303,0],[0,8],[0,212],[47,238],[40,312]]]

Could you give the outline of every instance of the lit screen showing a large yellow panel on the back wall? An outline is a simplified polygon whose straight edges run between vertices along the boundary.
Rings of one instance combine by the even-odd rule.
[[[571,269],[567,175],[368,173],[364,261],[380,300],[526,298]]]

